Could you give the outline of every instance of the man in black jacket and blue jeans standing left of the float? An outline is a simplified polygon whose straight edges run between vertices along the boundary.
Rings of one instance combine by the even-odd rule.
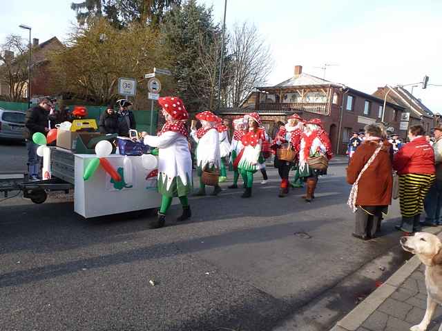
[[[26,148],[28,148],[28,174],[30,179],[37,180],[39,175],[39,157],[37,155],[37,143],[32,141],[32,136],[36,132],[41,132],[46,136],[50,130],[48,115],[52,107],[49,99],[44,98],[38,106],[26,110],[24,138],[26,139]]]

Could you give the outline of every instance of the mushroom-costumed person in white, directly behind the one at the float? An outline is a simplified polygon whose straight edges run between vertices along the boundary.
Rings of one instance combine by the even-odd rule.
[[[195,116],[201,122],[201,128],[196,130],[195,126],[191,128],[191,137],[198,143],[196,148],[197,173],[200,177],[200,190],[198,196],[206,195],[206,185],[202,182],[201,176],[204,170],[219,171],[221,165],[220,155],[220,137],[216,124],[220,118],[206,110],[199,112]],[[221,192],[220,185],[215,185],[212,195],[218,195]]]

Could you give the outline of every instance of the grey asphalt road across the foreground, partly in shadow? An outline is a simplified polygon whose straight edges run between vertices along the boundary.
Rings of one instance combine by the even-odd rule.
[[[10,146],[0,145],[2,159],[4,150]],[[190,200],[190,221],[175,222],[180,208],[173,206],[158,230],[146,228],[148,212],[83,219],[62,195],[42,205],[3,201],[0,329],[274,330],[398,246],[396,205],[382,237],[351,237],[344,172],[344,162],[331,165],[308,204],[301,189],[278,198],[278,175],[269,168],[271,180],[260,185],[257,174],[251,199],[225,183],[218,197]],[[393,260],[386,274],[403,256]],[[341,286],[342,299],[327,309],[345,314],[358,290],[374,289],[364,281]],[[333,323],[314,319],[303,323],[318,331]]]

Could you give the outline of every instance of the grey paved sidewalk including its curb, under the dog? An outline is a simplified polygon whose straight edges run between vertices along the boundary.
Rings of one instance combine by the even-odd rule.
[[[410,330],[425,314],[424,272],[425,265],[417,257],[412,257],[330,331]],[[442,307],[439,305],[427,331],[439,330],[441,323]]]

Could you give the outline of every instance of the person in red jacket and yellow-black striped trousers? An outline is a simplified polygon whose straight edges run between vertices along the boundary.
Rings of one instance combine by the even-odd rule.
[[[404,232],[419,231],[423,201],[436,180],[434,150],[425,139],[423,126],[411,126],[408,130],[410,143],[394,155],[393,168],[399,176],[399,205],[401,225],[396,229]]]

